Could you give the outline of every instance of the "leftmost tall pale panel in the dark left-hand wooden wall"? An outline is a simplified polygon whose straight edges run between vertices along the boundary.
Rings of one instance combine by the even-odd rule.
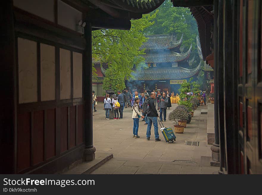
[[[19,103],[37,102],[37,43],[18,37]]]

